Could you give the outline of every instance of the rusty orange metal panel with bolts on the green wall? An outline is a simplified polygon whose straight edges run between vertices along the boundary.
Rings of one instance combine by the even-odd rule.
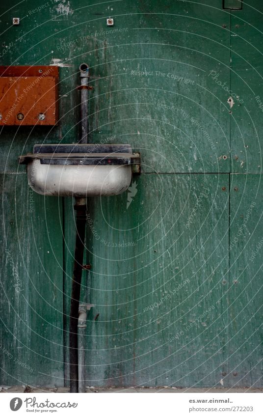
[[[58,68],[0,66],[0,125],[54,125]]]

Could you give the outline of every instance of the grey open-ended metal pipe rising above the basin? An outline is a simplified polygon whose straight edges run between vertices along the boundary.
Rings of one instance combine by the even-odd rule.
[[[80,71],[80,119],[81,119],[81,139],[80,143],[88,143],[88,83],[89,67],[83,63],[79,65]]]

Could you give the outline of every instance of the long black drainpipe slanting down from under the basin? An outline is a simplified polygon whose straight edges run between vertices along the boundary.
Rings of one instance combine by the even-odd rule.
[[[86,198],[76,198],[76,246],[74,255],[74,272],[72,278],[70,326],[69,326],[69,361],[70,392],[79,392],[78,371],[78,320],[79,297],[83,265],[83,252],[86,231]]]

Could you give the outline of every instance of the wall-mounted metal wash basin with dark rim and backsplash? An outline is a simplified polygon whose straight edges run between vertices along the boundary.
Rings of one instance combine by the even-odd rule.
[[[34,145],[19,163],[27,164],[28,184],[38,194],[117,195],[128,189],[139,154],[126,144]]]

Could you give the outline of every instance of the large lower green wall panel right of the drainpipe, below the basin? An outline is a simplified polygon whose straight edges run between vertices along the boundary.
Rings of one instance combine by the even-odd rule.
[[[94,199],[90,208],[96,307],[87,329],[88,385],[213,384],[226,361],[228,175],[142,174],[137,181],[128,209],[125,195]]]

